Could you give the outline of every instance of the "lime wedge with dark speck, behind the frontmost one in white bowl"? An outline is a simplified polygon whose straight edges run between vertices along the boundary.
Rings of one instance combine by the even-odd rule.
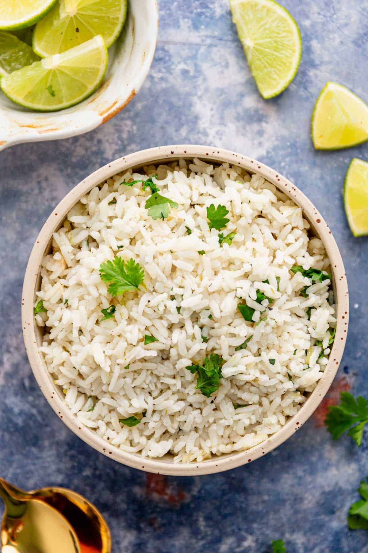
[[[60,0],[33,34],[34,51],[45,58],[102,35],[109,48],[126,18],[126,0]]]

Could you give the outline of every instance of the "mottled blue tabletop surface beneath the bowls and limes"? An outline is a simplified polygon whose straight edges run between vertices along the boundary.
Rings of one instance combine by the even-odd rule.
[[[368,397],[368,240],[351,236],[341,194],[350,159],[368,159],[368,145],[323,153],[310,141],[313,104],[327,80],[368,101],[368,0],[285,0],[284,6],[300,25],[303,56],[278,98],[258,95],[227,0],[160,0],[151,73],[123,112],[89,134],[0,154],[0,474],[25,488],[60,484],[86,495],[111,526],[114,553],[262,553],[277,538],[284,538],[287,553],[368,551],[368,533],[346,526],[368,474],[368,435],[360,448],[348,437],[333,443],[318,426],[319,410],[319,418],[249,466],[147,482],[145,473],[100,455],[63,425],[36,385],[23,346],[26,262],[66,192],[99,166],[142,148],[211,144],[273,166],[327,219],[351,298],[348,344],[330,400],[348,387]]]

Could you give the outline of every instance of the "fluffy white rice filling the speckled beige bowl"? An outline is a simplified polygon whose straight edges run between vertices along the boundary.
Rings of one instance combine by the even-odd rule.
[[[179,205],[164,220],[148,216],[140,184],[121,184],[153,174],[161,194]],[[219,247],[218,231],[209,230],[211,204],[229,210],[222,232],[236,233],[231,246]],[[330,281],[311,285],[290,272],[293,265],[329,272],[309,228],[301,208],[259,175],[198,159],[129,170],[84,196],[42,261],[36,302],[47,312],[35,317],[45,326],[40,351],[81,424],[121,450],[172,452],[184,462],[245,450],[280,430],[321,378],[336,323]],[[145,278],[140,291],[111,298],[99,267],[116,255],[135,259]],[[255,301],[256,290],[274,300],[270,308]],[[238,311],[244,302],[255,309],[254,322]],[[100,322],[109,305],[114,317]],[[145,346],[146,334],[157,341]],[[252,335],[247,349],[235,351]],[[319,359],[316,340],[325,348]],[[207,398],[185,367],[210,353],[224,364],[220,387]],[[234,409],[239,404],[246,406]],[[144,411],[137,426],[119,422]]]

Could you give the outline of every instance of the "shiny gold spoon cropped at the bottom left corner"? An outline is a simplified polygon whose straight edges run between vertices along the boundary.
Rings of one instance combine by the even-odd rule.
[[[0,497],[6,506],[2,553],[111,552],[108,525],[76,492],[65,488],[24,492],[0,478]]]

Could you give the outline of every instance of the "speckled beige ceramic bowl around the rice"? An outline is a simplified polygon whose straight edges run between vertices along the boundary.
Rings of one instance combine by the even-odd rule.
[[[50,373],[45,367],[44,359],[38,351],[38,345],[42,341],[42,330],[34,323],[33,305],[35,290],[38,290],[40,286],[39,270],[41,259],[44,257],[45,252],[49,251],[52,233],[61,226],[67,212],[82,196],[110,176],[120,173],[120,171],[127,168],[132,167],[137,169],[147,164],[164,163],[178,158],[193,157],[198,157],[207,162],[211,161],[215,164],[227,161],[231,164],[240,165],[250,173],[258,173],[272,182],[302,208],[305,217],[311,223],[313,232],[322,239],[332,264],[333,289],[335,300],[337,301],[338,323],[335,341],[323,377],[319,380],[316,389],[310,394],[310,397],[300,411],[287,421],[281,430],[270,436],[262,444],[246,451],[212,457],[210,460],[202,461],[201,463],[174,463],[172,456],[169,454],[161,458],[151,459],[148,457],[143,458],[139,454],[125,453],[118,448],[111,447],[108,441],[97,436],[92,430],[81,426],[76,416],[71,413],[64,403],[63,393],[54,384]],[[313,204],[292,182],[262,163],[241,154],[229,152],[228,150],[196,145],[164,146],[130,154],[125,158],[116,159],[109,165],[105,165],[102,169],[95,171],[87,179],[80,182],[55,208],[42,228],[29,258],[22,298],[23,333],[28,358],[40,388],[55,413],[60,416],[77,436],[97,451],[104,453],[104,455],[113,458],[115,461],[148,472],[173,475],[210,474],[244,465],[244,463],[253,461],[273,450],[294,434],[296,430],[300,429],[327,393],[337,372],[344,351],[349,318],[348,285],[346,283],[342,258],[330,229]]]

